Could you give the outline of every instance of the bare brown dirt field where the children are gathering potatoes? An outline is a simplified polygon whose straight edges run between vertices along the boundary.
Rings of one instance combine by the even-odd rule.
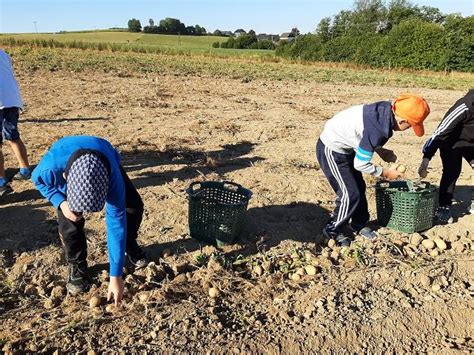
[[[417,92],[431,105],[432,132],[464,92],[154,74],[17,76],[27,104],[20,130],[32,163],[65,135],[110,140],[144,200],[139,240],[156,265],[126,277],[121,309],[106,309],[104,299],[90,308],[92,295],[106,294],[108,268],[103,216],[92,215],[86,228],[95,286],[83,297],[64,297],[67,267],[53,208],[31,182],[13,182],[16,193],[0,204],[5,352],[474,350],[467,165],[457,222],[422,233],[444,240],[447,250],[433,252],[409,244],[409,235],[381,229],[373,244],[359,241],[341,254],[320,235],[334,195],[315,158],[325,121],[350,105]],[[415,177],[423,143],[403,132],[387,145],[408,166],[408,177]],[[3,151],[6,166],[15,167],[9,147]],[[439,158],[432,167],[428,179],[437,183]],[[253,191],[245,243],[200,251],[187,235],[185,189],[203,179],[232,180]],[[375,219],[374,190],[368,194]],[[172,255],[162,257],[164,249]],[[196,266],[198,254],[210,256],[209,263]],[[247,265],[263,260],[263,269],[250,274],[215,260],[227,264],[239,254]],[[316,275],[289,280],[272,272],[285,258],[314,265]],[[217,298],[208,296],[211,286],[219,289]]]

